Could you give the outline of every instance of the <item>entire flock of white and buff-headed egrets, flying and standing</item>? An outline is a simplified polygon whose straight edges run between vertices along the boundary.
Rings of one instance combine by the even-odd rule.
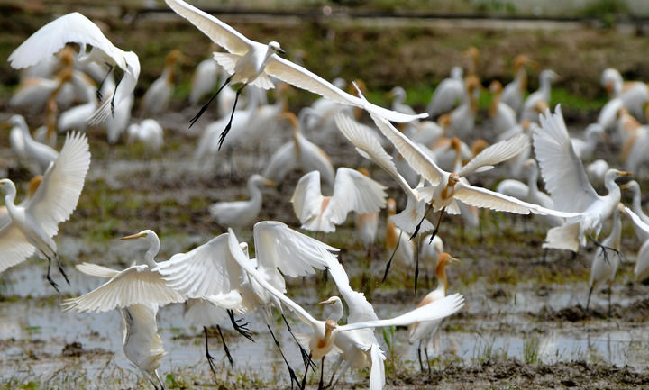
[[[123,350],[127,358],[146,376],[151,385],[162,388],[157,369],[165,355],[158,335],[156,314],[162,304],[187,303],[187,321],[206,328],[230,318],[233,328],[251,338],[247,324],[236,316],[257,312],[268,324],[270,334],[284,357],[273,331],[273,311],[284,316],[288,308],[312,329],[308,335],[293,336],[300,345],[305,373],[300,380],[286,358],[291,384],[306,386],[310,367],[319,369],[320,387],[324,385],[324,357],[335,358],[329,385],[350,367],[370,367],[370,389],[385,385],[385,356],[374,335],[374,328],[408,325],[409,340],[425,349],[429,362],[429,344],[436,338],[444,317],[462,308],[462,295],[447,295],[445,267],[457,259],[443,252],[441,222],[445,213],[462,214],[471,224],[478,223],[478,208],[498,212],[536,214],[547,227],[544,248],[574,252],[588,240],[599,248],[595,252],[590,275],[590,295],[604,283],[611,283],[620,260],[621,215],[635,225],[644,245],[637,255],[635,276],[649,275],[649,219],[641,209],[640,186],[626,183],[634,194],[631,208],[620,203],[621,189],[616,179],[636,173],[647,159],[647,128],[641,122],[649,118],[647,85],[625,83],[619,72],[607,69],[602,86],[610,95],[597,123],[584,132],[584,139],[572,139],[563,122],[561,107],[554,113],[548,108],[551,83],[557,75],[552,70],[540,74],[539,89],[526,96],[527,67],[534,61],[519,56],[515,61],[514,80],[507,86],[494,81],[489,109],[497,142],[489,145],[464,141],[475,138],[477,99],[482,90],[475,73],[478,50],[465,53],[471,66],[464,76],[462,68],[453,68],[451,77],[435,90],[427,113],[416,114],[405,104],[405,91],[392,90],[391,109],[368,102],[364,86],[354,84],[356,95],[343,91],[339,80],[329,83],[306,68],[280,57],[278,42],[262,44],[251,41],[231,26],[182,0],[165,0],[178,15],[194,24],[217,46],[215,52],[197,66],[190,102],[196,105],[215,89],[218,92],[203,105],[191,124],[198,121],[217,98],[220,119],[206,125],[198,142],[196,157],[205,159],[222,147],[236,152],[242,142],[253,143],[264,137],[257,129],[262,124],[279,126],[288,121],[292,139],[279,147],[266,164],[263,175],[248,180],[250,199],[222,202],[209,207],[215,222],[227,232],[187,253],[178,253],[165,261],[156,261],[160,240],[151,230],[141,231],[123,240],[145,240],[148,249],[144,262],[118,270],[82,263],[77,269],[87,275],[108,279],[95,290],[65,300],[64,310],[105,312],[118,310],[123,318]],[[78,45],[78,52],[69,44]],[[91,49],[88,50],[87,46]],[[0,209],[0,271],[21,263],[36,253],[51,263],[69,281],[57,254],[59,223],[74,213],[90,166],[88,125],[105,127],[107,139],[118,141],[127,131],[129,141],[142,141],[151,149],[163,146],[163,126],[152,117],[163,113],[169,104],[174,83],[174,64],[186,60],[177,50],[169,53],[165,68],[142,97],[141,114],[150,116],[141,122],[131,120],[133,91],[140,73],[140,63],[133,51],[123,51],[108,41],[96,24],[78,13],[66,14],[43,26],[23,42],[9,57],[13,68],[24,69],[22,85],[11,100],[15,108],[45,111],[46,124],[34,132],[20,115],[8,122],[10,141],[16,154],[38,167],[23,202],[16,204],[17,191],[9,179],[0,180],[5,206]],[[114,68],[123,76],[115,82]],[[219,77],[221,75],[221,77]],[[360,75],[361,76],[361,75]],[[98,83],[98,85],[97,85]],[[233,87],[237,86],[238,87]],[[321,95],[311,107],[296,116],[286,113],[281,98],[287,85]],[[276,88],[277,104],[268,104],[266,90]],[[247,92],[243,109],[237,110],[242,91]],[[59,113],[60,107],[69,107]],[[373,126],[358,122],[360,110],[370,114]],[[437,118],[436,121],[426,120]],[[281,118],[281,119],[279,119]],[[392,122],[398,122],[399,128]],[[334,167],[324,152],[306,138],[305,129],[341,132],[364,159],[384,169],[398,184],[407,199],[404,210],[388,199],[387,186],[372,179],[364,169]],[[56,132],[68,132],[60,151],[52,149]],[[269,131],[270,133],[270,131]],[[591,159],[599,141],[614,142],[622,150],[626,171],[608,168],[604,160],[584,167],[582,159]],[[390,155],[387,146],[394,150]],[[534,149],[532,147],[534,146]],[[221,153],[224,153],[222,151]],[[510,177],[496,190],[471,185],[469,179],[505,162]],[[260,186],[277,186],[295,168],[306,172],[295,186],[290,202],[307,231],[331,232],[355,213],[358,237],[370,256],[377,235],[379,211],[388,209],[386,246],[398,263],[416,264],[419,258],[436,263],[438,286],[415,310],[397,317],[379,320],[368,300],[350,286],[349,278],[337,258],[339,249],[300,233],[282,222],[254,224],[256,258],[248,255],[248,244],[240,242],[234,230],[250,227],[261,212]],[[549,195],[537,186],[539,174]],[[333,195],[323,195],[321,181],[333,188]],[[599,195],[591,181],[606,187]],[[436,215],[436,216],[434,216]],[[430,220],[429,220],[430,218]],[[612,227],[608,237],[599,241],[603,226]],[[233,230],[234,228],[234,230]],[[422,240],[422,236],[430,233]],[[416,240],[418,238],[418,240]],[[415,245],[419,242],[420,245]],[[386,268],[386,276],[388,273]],[[290,299],[285,277],[305,277],[325,270],[334,279],[340,297],[321,304],[334,307],[325,320],[316,319]],[[348,308],[346,324],[343,301]],[[285,318],[286,321],[286,318]],[[288,322],[287,322],[288,327]],[[220,328],[218,328],[220,331]],[[290,331],[290,327],[288,327]],[[292,334],[292,333],[291,333]],[[206,331],[207,338],[207,331]],[[222,337],[223,338],[223,337]],[[298,340],[299,339],[299,340]],[[232,358],[227,349],[228,358]],[[210,367],[215,364],[209,351]],[[316,366],[313,362],[319,364]],[[423,364],[420,357],[420,366]],[[430,369],[430,367],[428,367]],[[334,384],[335,385],[335,384]]]

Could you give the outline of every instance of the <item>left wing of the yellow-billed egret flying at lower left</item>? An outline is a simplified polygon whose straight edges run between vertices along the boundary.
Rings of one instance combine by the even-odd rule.
[[[65,311],[106,312],[133,304],[170,304],[183,302],[185,297],[167,286],[160,273],[149,266],[124,269],[93,291],[63,301]]]

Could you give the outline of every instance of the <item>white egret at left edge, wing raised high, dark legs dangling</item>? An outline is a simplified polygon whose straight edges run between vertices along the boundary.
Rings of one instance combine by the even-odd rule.
[[[52,237],[59,231],[59,223],[67,221],[77,207],[89,167],[86,135],[71,132],[66,135],[59,157],[43,174],[41,185],[29,202],[14,204],[14,182],[6,178],[0,180],[0,188],[5,192],[5,206],[11,217],[11,222],[0,227],[0,272],[23,262],[38,250],[48,259],[47,279],[50,284],[59,291],[50,278],[52,259],[56,259],[59,271],[69,282]]]

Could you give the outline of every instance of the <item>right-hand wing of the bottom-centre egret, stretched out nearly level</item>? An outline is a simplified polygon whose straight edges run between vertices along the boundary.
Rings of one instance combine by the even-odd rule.
[[[464,305],[461,294],[447,295],[431,304],[418,307],[415,310],[401,314],[388,320],[348,323],[338,327],[338,331],[352,331],[362,328],[379,328],[386,326],[404,326],[413,322],[433,321],[456,313]]]

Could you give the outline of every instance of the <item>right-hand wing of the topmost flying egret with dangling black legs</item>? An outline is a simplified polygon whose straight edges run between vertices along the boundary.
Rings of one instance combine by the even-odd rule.
[[[168,0],[169,1],[169,0]],[[287,82],[298,88],[306,89],[317,95],[322,95],[327,99],[334,102],[346,105],[355,105],[364,108],[370,113],[375,113],[383,118],[392,122],[412,122],[420,118],[425,118],[428,113],[420,113],[418,115],[409,115],[407,113],[398,113],[396,111],[388,110],[379,107],[376,104],[371,104],[368,101],[363,101],[360,98],[344,92],[342,89],[334,86],[332,83],[326,81],[324,78],[317,76],[315,73],[300,67],[288,59],[283,59],[277,54],[270,56],[266,63],[266,73],[272,77],[277,77],[280,80]]]

